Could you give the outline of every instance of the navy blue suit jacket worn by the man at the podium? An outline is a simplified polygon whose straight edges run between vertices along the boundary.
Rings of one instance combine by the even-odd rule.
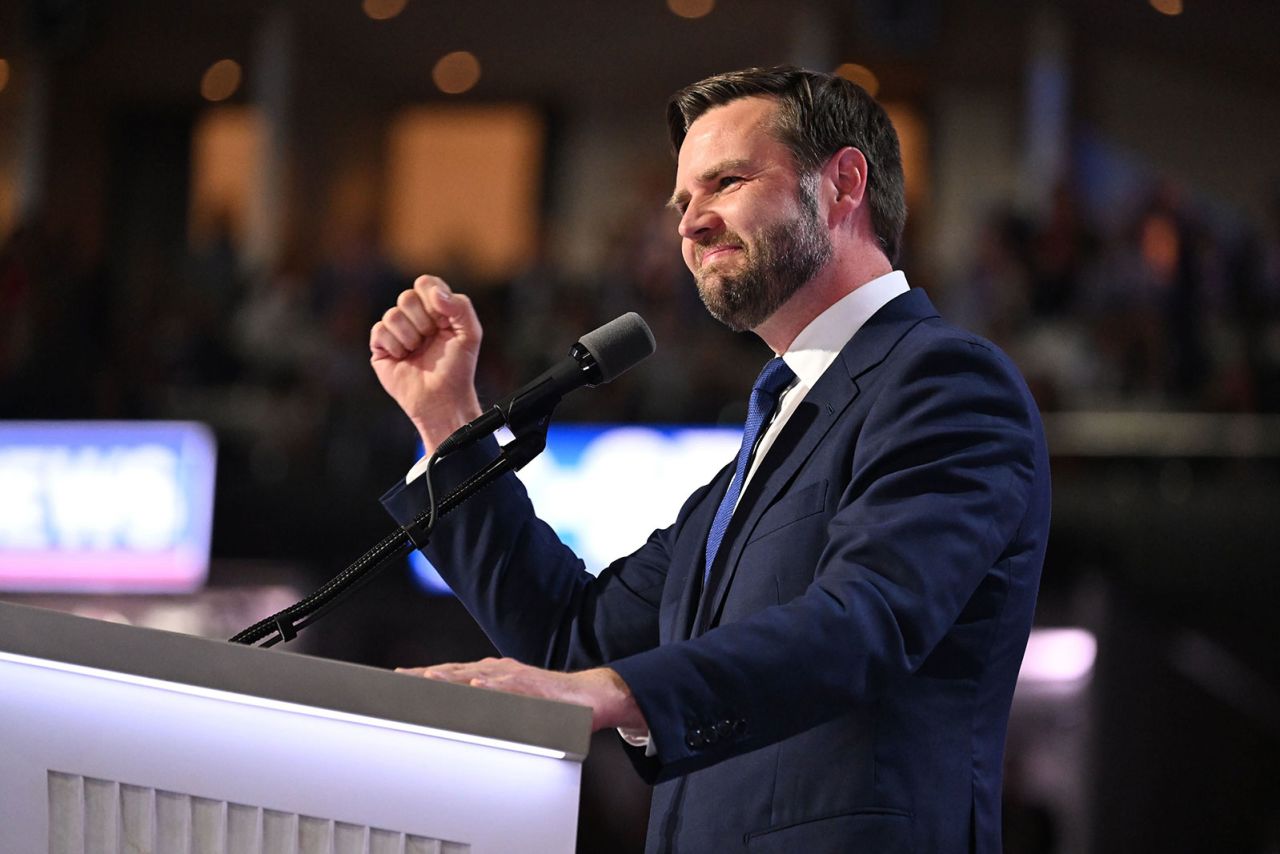
[[[632,749],[657,784],[649,851],[998,854],[1050,516],[1018,371],[923,292],[892,300],[778,435],[704,592],[731,474],[599,577],[513,476],[444,519],[429,557],[503,654],[626,680],[655,746]],[[404,522],[421,492],[384,503]]]

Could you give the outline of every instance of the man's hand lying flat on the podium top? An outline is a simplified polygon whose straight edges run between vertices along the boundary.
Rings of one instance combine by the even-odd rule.
[[[513,658],[485,658],[463,665],[399,667],[396,672],[585,705],[591,709],[593,731],[611,727],[628,732],[649,731],[631,689],[608,667],[561,673],[530,667]]]

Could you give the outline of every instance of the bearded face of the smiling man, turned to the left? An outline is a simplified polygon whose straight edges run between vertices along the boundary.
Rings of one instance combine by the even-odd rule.
[[[817,181],[796,175],[767,97],[712,108],[680,147],[672,206],[707,310],[731,329],[764,323],[831,260]]]

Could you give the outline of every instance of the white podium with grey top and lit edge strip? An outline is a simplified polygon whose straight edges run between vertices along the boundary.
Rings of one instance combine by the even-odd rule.
[[[572,851],[590,711],[0,603],[0,851]]]

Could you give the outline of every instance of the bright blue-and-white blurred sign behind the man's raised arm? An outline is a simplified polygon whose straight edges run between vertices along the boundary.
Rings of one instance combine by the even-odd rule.
[[[538,516],[598,574],[676,521],[741,442],[731,428],[552,425],[520,480]],[[426,558],[413,552],[411,562],[424,586],[448,590]]]

